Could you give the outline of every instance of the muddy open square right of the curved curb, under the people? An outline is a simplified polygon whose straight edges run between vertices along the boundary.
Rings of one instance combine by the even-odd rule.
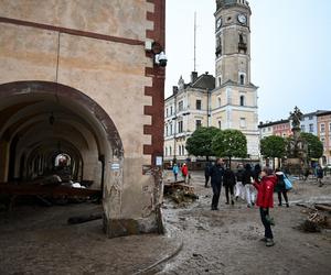
[[[316,180],[296,182],[290,191],[290,207],[278,207],[277,195],[271,210],[276,245],[265,246],[257,208],[244,201],[225,205],[222,188],[220,210],[211,211],[211,188],[204,188],[202,173],[195,173],[192,185],[200,199],[178,208],[164,205],[168,223],[182,232],[183,249],[158,274],[331,274],[331,232],[305,233],[295,229],[307,218],[307,209],[296,202],[331,202],[331,180],[323,187]]]

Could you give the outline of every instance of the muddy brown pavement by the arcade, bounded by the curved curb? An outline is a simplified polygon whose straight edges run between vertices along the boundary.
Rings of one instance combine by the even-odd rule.
[[[66,224],[68,217],[99,208],[81,204],[0,212],[0,274],[148,274],[181,249],[171,228],[166,235],[107,239],[102,220]]]

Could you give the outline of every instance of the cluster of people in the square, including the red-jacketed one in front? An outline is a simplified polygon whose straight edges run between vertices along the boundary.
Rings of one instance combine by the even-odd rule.
[[[209,186],[209,179],[211,178],[211,186],[213,188],[212,210],[218,210],[218,200],[223,184],[225,187],[225,204],[234,205],[234,200],[242,197],[246,199],[248,208],[254,205],[259,207],[261,222],[265,227],[265,237],[261,241],[266,242],[267,246],[273,246],[275,243],[269,208],[274,207],[274,190],[278,193],[278,205],[282,206],[282,196],[286,206],[289,207],[285,174],[280,170],[274,172],[269,167],[261,169],[258,164],[254,168],[249,164],[246,164],[244,169],[238,169],[235,175],[229,167],[224,166],[223,160],[217,158],[215,165],[207,165],[205,168],[205,187]],[[234,196],[234,189],[236,189],[236,196]]]

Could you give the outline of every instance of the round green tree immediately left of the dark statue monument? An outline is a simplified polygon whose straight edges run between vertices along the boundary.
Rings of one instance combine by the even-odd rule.
[[[270,135],[260,141],[260,153],[265,157],[282,158],[286,153],[286,141],[281,136]]]

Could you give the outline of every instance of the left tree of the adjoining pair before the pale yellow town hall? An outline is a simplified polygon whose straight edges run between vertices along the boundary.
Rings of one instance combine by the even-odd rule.
[[[186,150],[190,155],[205,156],[206,161],[213,155],[212,140],[221,130],[215,127],[196,129],[186,141]]]

